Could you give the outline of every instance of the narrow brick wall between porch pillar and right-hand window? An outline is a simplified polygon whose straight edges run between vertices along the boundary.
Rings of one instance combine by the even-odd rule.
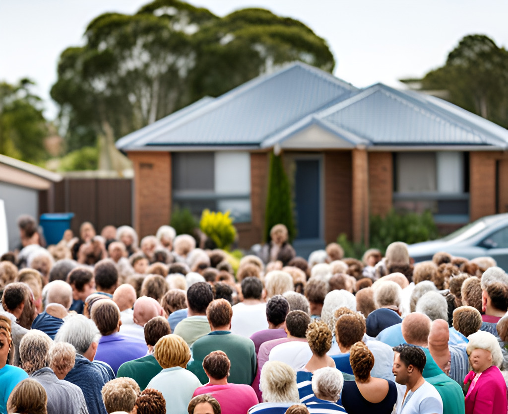
[[[392,208],[392,153],[369,153],[369,212],[385,216]]]

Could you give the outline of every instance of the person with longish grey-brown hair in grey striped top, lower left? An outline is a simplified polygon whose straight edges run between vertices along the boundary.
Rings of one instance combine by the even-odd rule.
[[[52,344],[53,341],[44,332],[36,329],[28,331],[19,345],[23,369],[44,387],[48,414],[88,412],[81,389],[71,382],[58,379],[48,368],[48,353]]]

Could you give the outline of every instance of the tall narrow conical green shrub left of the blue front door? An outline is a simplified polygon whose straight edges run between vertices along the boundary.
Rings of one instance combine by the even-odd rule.
[[[266,242],[270,241],[270,230],[276,224],[284,224],[288,228],[288,240],[291,243],[296,234],[291,208],[291,188],[281,157],[271,152],[265,216]]]

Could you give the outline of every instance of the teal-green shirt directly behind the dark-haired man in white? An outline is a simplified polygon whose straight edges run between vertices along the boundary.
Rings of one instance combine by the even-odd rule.
[[[460,385],[442,372],[441,368],[434,362],[428,348],[422,348],[427,357],[423,377],[430,382],[441,396],[443,402],[443,413],[464,414],[464,393]]]

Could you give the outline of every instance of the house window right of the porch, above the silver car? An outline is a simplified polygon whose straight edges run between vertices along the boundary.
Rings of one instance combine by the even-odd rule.
[[[394,154],[394,207],[422,213],[437,223],[467,223],[467,155],[462,152]]]

